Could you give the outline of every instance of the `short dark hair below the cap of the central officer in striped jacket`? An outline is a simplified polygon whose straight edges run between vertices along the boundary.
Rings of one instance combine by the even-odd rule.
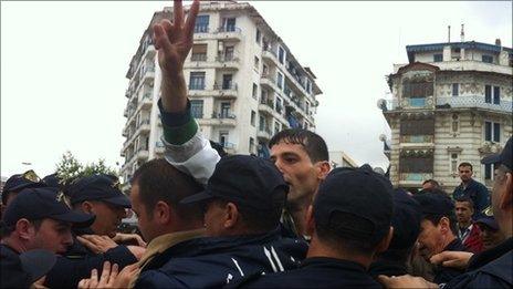
[[[252,234],[269,233],[276,229],[280,225],[283,207],[285,204],[286,190],[283,187],[278,187],[273,194],[273,208],[269,210],[255,209],[249,206],[235,204],[241,216],[242,223]],[[229,200],[216,198],[213,199],[219,206],[226,206]]]

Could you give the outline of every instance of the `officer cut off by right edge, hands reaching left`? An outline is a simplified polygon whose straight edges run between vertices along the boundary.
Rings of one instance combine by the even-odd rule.
[[[492,249],[472,256],[471,252],[442,252],[436,262],[461,267],[468,264],[467,272],[450,280],[443,288],[512,288],[513,268],[513,138],[507,140],[500,154],[481,161],[483,164],[498,164],[492,189],[492,210],[500,230],[506,240]],[[438,288],[420,277],[401,276],[379,280],[387,288]]]

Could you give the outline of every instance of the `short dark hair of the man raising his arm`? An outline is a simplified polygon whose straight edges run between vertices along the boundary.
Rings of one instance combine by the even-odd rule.
[[[273,135],[269,141],[269,148],[280,142],[285,144],[299,144],[304,147],[313,163],[329,161],[326,142],[316,133],[303,128],[289,128]]]

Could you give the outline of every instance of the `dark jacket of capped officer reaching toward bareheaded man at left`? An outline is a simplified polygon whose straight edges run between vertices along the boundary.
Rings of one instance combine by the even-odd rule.
[[[74,234],[77,231],[75,230]],[[92,231],[80,231],[83,234],[93,234]],[[57,257],[55,266],[46,275],[44,285],[49,288],[76,288],[78,281],[84,278],[91,278],[91,270],[102,271],[105,261],[115,262],[119,268],[137,261],[137,258],[128,250],[126,246],[117,246],[104,254],[94,254],[73,237],[73,245],[67,249],[64,256]]]

